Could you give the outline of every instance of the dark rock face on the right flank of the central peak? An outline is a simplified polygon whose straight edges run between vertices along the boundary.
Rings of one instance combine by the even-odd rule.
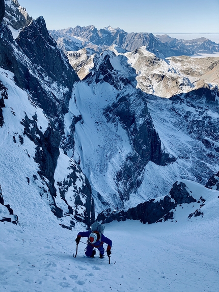
[[[118,122],[126,130],[133,152],[127,156],[122,169],[117,173],[117,183],[123,186],[120,196],[129,200],[129,194],[141,185],[144,168],[149,161],[167,165],[175,161],[161,149],[161,141],[148,112],[146,96],[141,90],[130,88],[117,96],[117,101],[106,107],[104,115],[108,122]]]

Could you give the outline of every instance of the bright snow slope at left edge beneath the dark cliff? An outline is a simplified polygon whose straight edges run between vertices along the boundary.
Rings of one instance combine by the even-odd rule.
[[[17,214],[19,219],[29,225],[33,220],[36,206],[40,204],[44,195],[42,181],[33,178],[33,175],[38,177],[39,171],[39,165],[34,161],[36,145],[28,137],[23,136],[24,127],[20,121],[24,119],[25,114],[30,119],[37,114],[38,127],[44,132],[48,120],[28,94],[15,85],[11,72],[1,69],[0,74],[1,81],[8,88],[8,99],[4,99],[6,107],[3,109],[5,123],[0,128],[0,184],[5,204],[10,204],[15,214],[19,210]],[[29,194],[28,197],[26,193]],[[38,210],[37,217],[43,216],[44,207]],[[29,213],[26,213],[27,208],[31,210]]]

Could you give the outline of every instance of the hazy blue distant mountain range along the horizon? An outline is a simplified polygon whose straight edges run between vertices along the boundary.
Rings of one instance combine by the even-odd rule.
[[[126,33],[120,28],[107,28],[97,30],[94,25],[79,26],[64,30],[52,30],[51,36],[57,41],[63,51],[74,51],[81,48],[92,48],[95,51],[102,51],[112,45],[128,51],[133,51],[146,46],[150,52],[156,54],[159,51],[165,57],[190,56],[198,52],[219,51],[219,44],[209,39],[201,38],[190,41],[177,40],[169,36],[154,36],[151,33]]]

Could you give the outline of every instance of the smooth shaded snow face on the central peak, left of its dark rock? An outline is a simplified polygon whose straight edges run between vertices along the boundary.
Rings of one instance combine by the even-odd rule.
[[[116,100],[117,93],[108,83],[90,86],[78,83],[74,89],[77,107],[83,117],[83,121],[75,126],[74,158],[78,161],[80,157],[80,166],[94,188],[96,211],[102,210],[102,206],[98,206],[96,192],[103,195],[109,204],[117,203],[114,177],[131,151],[125,130],[121,126],[115,129],[103,116],[104,107]],[[66,121],[67,116],[69,113]]]

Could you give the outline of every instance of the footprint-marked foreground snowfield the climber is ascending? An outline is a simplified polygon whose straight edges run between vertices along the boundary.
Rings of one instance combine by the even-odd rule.
[[[62,229],[51,213],[25,227],[0,222],[0,291],[217,292],[219,192],[183,182],[195,198],[206,200],[203,217],[187,218],[194,211],[191,203],[178,206],[173,222],[106,224],[104,234],[113,241],[111,264],[98,253],[87,258],[83,243],[73,258],[83,227]]]

